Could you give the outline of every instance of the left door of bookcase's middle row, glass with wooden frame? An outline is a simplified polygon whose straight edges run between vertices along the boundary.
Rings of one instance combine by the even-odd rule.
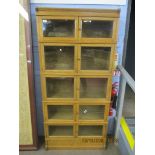
[[[74,77],[46,76],[43,80],[43,98],[44,100],[73,100],[76,97],[76,82]]]

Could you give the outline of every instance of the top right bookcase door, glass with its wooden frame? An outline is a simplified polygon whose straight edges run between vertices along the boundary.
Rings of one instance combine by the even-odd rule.
[[[79,36],[82,42],[116,42],[115,18],[81,17],[79,23]]]

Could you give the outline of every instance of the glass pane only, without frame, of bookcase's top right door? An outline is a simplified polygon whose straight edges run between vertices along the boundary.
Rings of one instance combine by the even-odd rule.
[[[82,37],[112,38],[113,21],[82,20]]]

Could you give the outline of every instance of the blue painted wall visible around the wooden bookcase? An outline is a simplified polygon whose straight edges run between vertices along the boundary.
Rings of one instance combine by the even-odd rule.
[[[37,7],[51,7],[51,8],[92,8],[92,9],[120,9],[120,21],[119,21],[119,34],[118,34],[118,63],[121,64],[123,42],[125,37],[125,24],[127,5],[60,5],[60,4],[30,4],[31,8],[31,20],[32,20],[32,41],[33,41],[33,55],[34,55],[34,76],[35,76],[35,95],[36,95],[36,107],[37,107],[37,126],[38,134],[44,135],[43,132],[43,115],[42,115],[42,103],[41,103],[41,88],[40,88],[40,75],[39,75],[39,57],[38,57],[38,40],[37,40],[37,28],[35,8]],[[118,81],[118,77],[113,77],[114,81]]]

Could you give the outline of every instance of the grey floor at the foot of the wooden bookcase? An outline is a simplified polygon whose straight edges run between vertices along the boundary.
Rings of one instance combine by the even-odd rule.
[[[38,151],[20,151],[19,155],[120,155],[117,145],[109,144],[108,148],[98,150],[48,150],[41,147]]]

